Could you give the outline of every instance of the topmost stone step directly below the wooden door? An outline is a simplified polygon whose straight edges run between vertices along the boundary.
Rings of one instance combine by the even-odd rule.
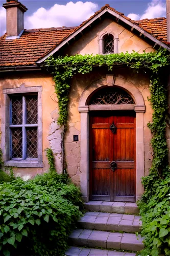
[[[86,210],[116,212],[117,214],[138,214],[139,209],[136,203],[89,201],[84,204]]]

